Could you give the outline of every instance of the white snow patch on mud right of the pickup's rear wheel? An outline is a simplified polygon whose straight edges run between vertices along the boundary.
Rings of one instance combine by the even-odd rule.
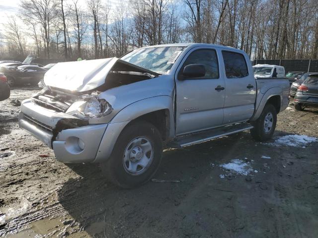
[[[309,143],[318,141],[318,138],[307,135],[284,135],[275,139],[274,143],[268,143],[275,146],[293,146],[303,147]]]

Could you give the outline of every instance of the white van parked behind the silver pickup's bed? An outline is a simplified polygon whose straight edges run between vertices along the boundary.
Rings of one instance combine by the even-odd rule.
[[[285,77],[285,68],[279,65],[256,64],[253,66],[253,71],[256,78]]]

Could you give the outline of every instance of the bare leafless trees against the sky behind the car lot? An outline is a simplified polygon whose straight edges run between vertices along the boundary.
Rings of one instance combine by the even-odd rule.
[[[318,0],[21,0],[0,28],[0,59],[120,57],[210,43],[251,60],[318,59]]]

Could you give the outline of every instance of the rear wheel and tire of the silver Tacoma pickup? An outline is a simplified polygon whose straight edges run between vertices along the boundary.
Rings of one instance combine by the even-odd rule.
[[[265,122],[265,119],[267,123]],[[257,141],[266,141],[273,136],[277,122],[277,112],[272,104],[267,104],[259,118],[252,123],[250,130],[252,137]],[[267,125],[267,126],[266,126]]]

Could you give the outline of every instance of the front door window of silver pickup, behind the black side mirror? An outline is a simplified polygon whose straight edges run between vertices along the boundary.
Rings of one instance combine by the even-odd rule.
[[[180,72],[189,64],[203,64],[205,75],[196,79],[216,79],[219,78],[218,58],[215,50],[196,50],[192,52],[182,65]]]

